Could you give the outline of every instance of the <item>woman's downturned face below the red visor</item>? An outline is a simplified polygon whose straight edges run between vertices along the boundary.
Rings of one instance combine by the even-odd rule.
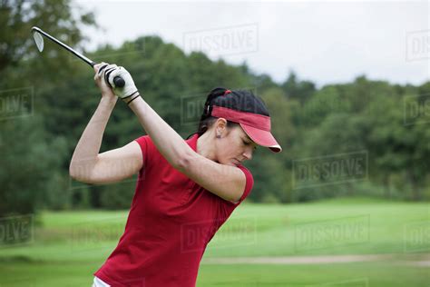
[[[241,126],[225,128],[221,138],[216,139],[217,159],[221,164],[237,166],[252,158],[252,153],[258,144],[254,143]]]

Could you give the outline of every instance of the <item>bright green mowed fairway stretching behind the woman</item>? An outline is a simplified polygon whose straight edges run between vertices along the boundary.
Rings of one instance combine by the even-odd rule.
[[[42,213],[33,242],[2,245],[0,286],[91,286],[126,216]],[[189,236],[184,252],[200,234]],[[348,262],[355,254],[377,256]],[[428,203],[243,204],[210,242],[197,286],[429,287],[429,254]]]

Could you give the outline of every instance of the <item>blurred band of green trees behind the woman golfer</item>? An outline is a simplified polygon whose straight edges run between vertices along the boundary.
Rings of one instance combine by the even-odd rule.
[[[0,120],[0,215],[128,208],[136,178],[88,185],[73,182],[68,175],[75,144],[100,101],[93,70],[48,42],[39,54],[30,33],[37,25],[82,48],[88,41],[82,31],[97,27],[93,14],[66,0],[1,0],[0,22],[4,27],[0,92],[31,87],[34,100],[32,115]],[[184,138],[197,129],[202,104],[213,87],[246,88],[258,94],[269,107],[273,134],[284,151],[274,154],[259,148],[246,164],[255,180],[249,201],[291,203],[359,195],[430,199],[430,82],[401,85],[360,75],[352,83],[318,87],[290,71],[283,83],[275,83],[246,63],[232,65],[211,61],[202,53],[184,54],[156,35],[86,52],[94,61],[125,66],[145,100]],[[2,96],[0,112],[5,113],[7,99],[5,93]],[[407,107],[425,103],[424,114],[407,114]],[[186,104],[197,108],[190,112]],[[137,118],[119,101],[102,151],[142,134]],[[355,152],[366,153],[366,178],[295,187],[295,161]]]

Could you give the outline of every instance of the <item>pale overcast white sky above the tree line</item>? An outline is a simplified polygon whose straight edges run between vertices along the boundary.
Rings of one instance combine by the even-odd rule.
[[[88,48],[160,35],[186,53],[246,61],[282,82],[289,70],[318,85],[359,74],[397,84],[430,75],[430,8],[424,2],[77,1],[102,31]],[[144,53],[144,51],[143,51]],[[117,63],[118,64],[118,63]]]

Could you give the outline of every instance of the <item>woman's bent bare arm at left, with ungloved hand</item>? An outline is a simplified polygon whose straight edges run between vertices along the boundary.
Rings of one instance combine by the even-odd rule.
[[[99,153],[103,133],[117,97],[98,76],[101,64],[94,66],[94,80],[100,87],[102,99],[81,139],[76,145],[69,166],[70,176],[83,183],[113,183],[131,177],[142,168],[142,151],[139,143],[133,141],[121,148]]]

